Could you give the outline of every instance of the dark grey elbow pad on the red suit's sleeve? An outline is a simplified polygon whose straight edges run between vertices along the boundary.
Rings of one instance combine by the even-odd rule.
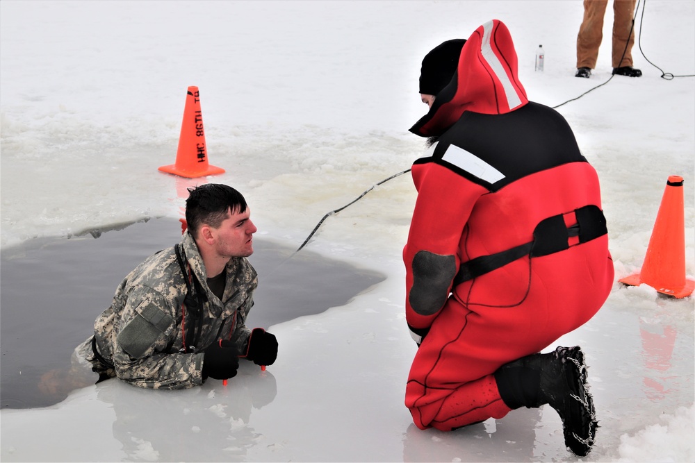
[[[456,275],[456,258],[430,251],[418,251],[413,258],[413,287],[408,301],[420,315],[439,312],[449,296],[449,286]]]

